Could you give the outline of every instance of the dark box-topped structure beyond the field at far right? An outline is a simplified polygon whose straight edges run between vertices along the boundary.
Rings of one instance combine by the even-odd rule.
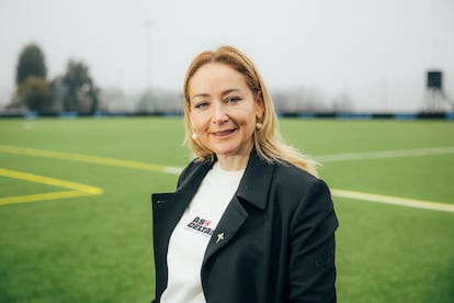
[[[454,103],[443,91],[443,71],[429,70],[427,74],[425,105],[428,112],[454,110]]]

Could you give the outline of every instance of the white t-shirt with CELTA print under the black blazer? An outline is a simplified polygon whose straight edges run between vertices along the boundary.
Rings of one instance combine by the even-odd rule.
[[[203,257],[243,172],[223,170],[216,162],[205,176],[170,236],[167,254],[169,276],[162,303],[206,302],[201,280]]]

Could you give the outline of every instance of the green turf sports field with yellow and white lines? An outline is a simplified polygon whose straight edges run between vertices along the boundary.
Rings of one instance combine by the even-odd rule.
[[[339,302],[453,302],[454,123],[281,120],[322,164]],[[149,302],[180,117],[0,120],[0,302]]]

